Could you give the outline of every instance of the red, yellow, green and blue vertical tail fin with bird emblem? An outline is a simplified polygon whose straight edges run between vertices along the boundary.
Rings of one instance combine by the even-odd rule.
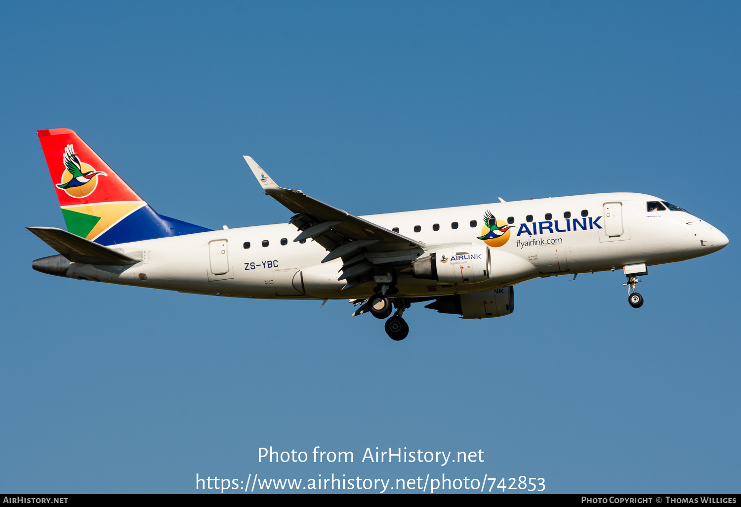
[[[210,229],[156,213],[73,130],[39,130],[67,231],[101,245]]]

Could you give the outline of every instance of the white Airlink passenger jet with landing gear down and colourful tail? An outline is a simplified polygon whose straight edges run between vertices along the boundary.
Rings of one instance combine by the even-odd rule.
[[[622,269],[639,308],[648,266],[728,245],[708,222],[645,193],[355,216],[280,187],[250,156],[262,190],[293,216],[214,231],[156,213],[73,130],[37,133],[67,231],[27,228],[59,252],[34,260],[36,271],[187,294],[348,299],[353,317],[386,319],[397,341],[412,303],[462,319],[503,317],[514,312],[514,285],[539,277]]]

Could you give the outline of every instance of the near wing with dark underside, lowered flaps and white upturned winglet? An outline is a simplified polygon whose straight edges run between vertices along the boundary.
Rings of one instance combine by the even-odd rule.
[[[293,241],[313,238],[328,251],[322,262],[342,258],[339,279],[347,280],[345,288],[370,282],[373,271],[408,265],[424,251],[422,242],[317,201],[301,190],[279,187],[252,157],[245,155],[245,161],[265,193],[296,213],[288,222],[300,231]]]

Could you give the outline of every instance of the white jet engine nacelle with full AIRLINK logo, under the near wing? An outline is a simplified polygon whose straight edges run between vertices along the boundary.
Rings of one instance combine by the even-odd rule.
[[[412,263],[414,278],[442,283],[485,282],[491,276],[491,253],[486,245],[444,246]]]

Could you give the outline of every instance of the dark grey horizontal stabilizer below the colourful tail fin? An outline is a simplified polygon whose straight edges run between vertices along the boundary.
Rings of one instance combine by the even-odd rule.
[[[56,227],[27,227],[27,229],[70,262],[103,266],[127,266],[140,262],[124,253]]]

